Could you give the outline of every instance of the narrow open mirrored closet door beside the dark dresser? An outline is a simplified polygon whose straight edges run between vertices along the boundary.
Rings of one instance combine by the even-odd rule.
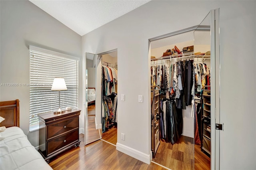
[[[86,53],[86,114],[84,116],[84,141],[89,144],[99,140],[101,129],[101,57]]]

